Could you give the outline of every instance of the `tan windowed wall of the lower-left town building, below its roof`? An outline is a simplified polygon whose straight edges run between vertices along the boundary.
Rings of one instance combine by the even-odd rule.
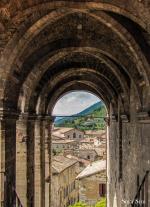
[[[76,172],[79,163],[69,166],[64,171],[52,175],[51,207],[69,206],[78,201],[79,189]]]

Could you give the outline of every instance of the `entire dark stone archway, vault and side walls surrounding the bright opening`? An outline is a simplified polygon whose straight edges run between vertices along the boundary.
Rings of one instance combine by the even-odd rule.
[[[107,108],[108,207],[150,202],[149,0],[1,0],[0,207],[50,206],[52,110],[73,90]]]

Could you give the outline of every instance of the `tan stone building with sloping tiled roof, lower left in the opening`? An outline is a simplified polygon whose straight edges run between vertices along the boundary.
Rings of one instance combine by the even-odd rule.
[[[79,199],[76,176],[79,163],[73,158],[54,156],[52,160],[51,207],[68,207]]]

